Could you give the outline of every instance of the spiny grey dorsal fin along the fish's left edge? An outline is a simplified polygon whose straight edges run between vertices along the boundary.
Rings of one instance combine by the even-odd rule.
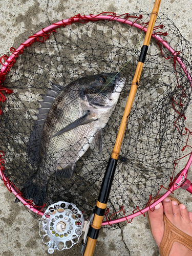
[[[52,88],[48,89],[47,94],[42,97],[43,101],[38,101],[41,107],[38,108],[39,113],[36,115],[37,120],[34,122],[33,131],[27,144],[27,151],[30,163],[36,163],[39,159],[41,132],[44,127],[47,115],[51,109],[51,106],[57,95],[62,90],[62,88],[60,86],[57,86],[57,84],[53,82],[50,82],[50,84]]]

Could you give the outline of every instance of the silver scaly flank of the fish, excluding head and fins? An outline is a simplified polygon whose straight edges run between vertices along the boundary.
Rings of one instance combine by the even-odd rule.
[[[49,111],[42,130],[40,155],[42,159],[46,157],[48,165],[53,165],[50,159],[54,159],[57,165],[53,165],[51,172],[54,172],[56,167],[64,169],[75,166],[77,160],[88,150],[90,143],[93,142],[94,134],[105,126],[114,110],[114,108],[111,108],[102,113],[102,111],[90,106],[87,100],[82,100],[79,97],[78,90],[79,85],[74,83],[69,90],[59,93]],[[55,133],[86,114],[88,110],[98,120],[77,126],[71,131],[51,139]]]

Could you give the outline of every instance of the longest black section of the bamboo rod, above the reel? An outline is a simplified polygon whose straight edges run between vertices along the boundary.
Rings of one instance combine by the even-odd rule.
[[[100,203],[106,204],[108,202],[116,166],[117,159],[110,158],[108,166],[106,167],[106,171],[104,174],[104,178],[101,184],[101,189],[98,197],[98,201]]]

